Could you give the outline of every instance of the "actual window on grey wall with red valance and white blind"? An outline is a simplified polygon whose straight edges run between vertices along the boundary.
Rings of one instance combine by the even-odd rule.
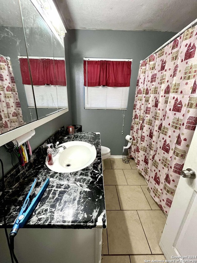
[[[85,109],[127,109],[131,61],[84,58]]]

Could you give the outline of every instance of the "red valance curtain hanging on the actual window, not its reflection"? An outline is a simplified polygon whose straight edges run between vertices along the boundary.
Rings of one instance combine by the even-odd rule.
[[[84,86],[129,87],[131,61],[84,60],[83,73]]]

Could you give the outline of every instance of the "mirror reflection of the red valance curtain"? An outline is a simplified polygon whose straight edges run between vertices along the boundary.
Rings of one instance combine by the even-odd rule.
[[[22,83],[30,85],[30,74],[26,58],[20,58]],[[66,86],[66,70],[64,60],[29,59],[33,85]]]

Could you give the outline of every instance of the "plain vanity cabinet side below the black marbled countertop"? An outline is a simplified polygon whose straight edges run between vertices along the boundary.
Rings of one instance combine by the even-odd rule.
[[[14,252],[20,263],[101,263],[102,230],[21,228],[14,238]],[[3,228],[0,262],[11,262]]]

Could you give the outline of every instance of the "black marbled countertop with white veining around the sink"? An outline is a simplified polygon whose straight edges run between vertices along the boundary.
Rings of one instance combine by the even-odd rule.
[[[6,187],[7,226],[11,228],[14,224],[34,179],[38,177],[35,193],[46,178],[50,183],[26,228],[106,228],[100,134],[80,132],[66,136],[61,132],[53,140],[60,144],[74,140],[88,142],[95,146],[97,156],[94,162],[80,171],[53,172],[45,164],[46,144],[51,142],[49,138],[36,151],[32,167],[23,179],[11,188]],[[0,228],[3,227],[2,211],[0,207]]]

